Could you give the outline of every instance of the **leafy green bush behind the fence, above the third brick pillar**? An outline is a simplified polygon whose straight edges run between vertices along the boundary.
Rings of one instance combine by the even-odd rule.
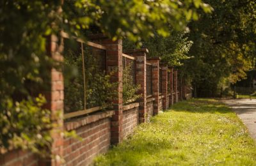
[[[161,62],[169,66],[182,66],[183,61],[191,58],[188,51],[193,45],[193,41],[189,41],[185,36],[186,31],[172,31],[170,36],[163,37],[155,34],[154,37],[142,41],[142,47],[148,49],[148,57],[161,57]],[[125,49],[136,49],[136,43],[125,39]]]

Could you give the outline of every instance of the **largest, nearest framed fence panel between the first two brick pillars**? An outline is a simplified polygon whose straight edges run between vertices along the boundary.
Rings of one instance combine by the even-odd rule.
[[[64,39],[64,118],[83,116],[106,105],[106,48],[93,42]]]

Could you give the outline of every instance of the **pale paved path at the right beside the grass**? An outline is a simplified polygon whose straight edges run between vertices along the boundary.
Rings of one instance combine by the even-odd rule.
[[[236,99],[224,100],[224,102],[236,112],[247,126],[250,135],[256,140],[256,100]]]

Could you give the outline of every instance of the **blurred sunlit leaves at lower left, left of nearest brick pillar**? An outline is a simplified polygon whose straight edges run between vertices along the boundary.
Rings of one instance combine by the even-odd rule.
[[[51,112],[42,109],[46,103],[40,94],[37,98],[28,98],[21,102],[8,99],[2,104],[0,114],[0,150],[21,148],[31,150],[42,156],[49,155],[47,148],[51,147]],[[47,148],[46,148],[47,147]]]

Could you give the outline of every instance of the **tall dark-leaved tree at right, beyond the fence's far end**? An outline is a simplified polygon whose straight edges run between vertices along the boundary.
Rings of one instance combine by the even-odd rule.
[[[189,22],[188,38],[194,43],[189,55],[194,58],[180,70],[193,80],[196,96],[216,96],[223,79],[234,84],[246,78],[255,64],[256,4],[253,0],[205,2],[214,11],[199,12],[200,19]]]

